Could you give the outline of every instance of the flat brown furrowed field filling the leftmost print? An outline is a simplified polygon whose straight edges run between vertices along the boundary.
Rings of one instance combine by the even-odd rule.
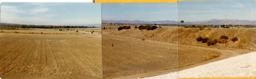
[[[102,78],[101,34],[1,31],[1,78]]]

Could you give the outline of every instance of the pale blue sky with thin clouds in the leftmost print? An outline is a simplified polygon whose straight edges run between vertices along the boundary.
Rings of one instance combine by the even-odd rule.
[[[101,4],[2,3],[1,22],[34,25],[101,24]]]

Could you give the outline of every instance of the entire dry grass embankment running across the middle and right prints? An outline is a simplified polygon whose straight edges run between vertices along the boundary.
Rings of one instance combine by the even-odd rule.
[[[104,30],[103,30],[104,31]],[[177,32],[178,31],[178,32]],[[171,44],[189,45],[198,47],[210,47],[218,49],[246,49],[252,47],[254,40],[252,29],[191,29],[191,28],[157,28],[155,30],[139,30],[136,28],[117,30],[111,32],[113,35],[140,38],[151,41],[159,41]],[[196,41],[199,36],[209,39],[220,39],[221,35],[228,36],[226,43],[217,43],[207,46],[207,43]],[[231,38],[238,37],[238,41],[233,42]],[[251,39],[250,39],[251,38]]]

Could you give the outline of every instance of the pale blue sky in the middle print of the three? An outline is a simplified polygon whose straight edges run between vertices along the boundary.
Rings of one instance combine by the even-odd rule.
[[[103,3],[102,20],[177,21],[177,3]]]

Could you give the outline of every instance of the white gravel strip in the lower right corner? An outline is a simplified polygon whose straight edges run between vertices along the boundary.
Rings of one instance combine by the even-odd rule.
[[[200,65],[197,67],[181,70],[179,78],[191,77],[255,77],[256,76],[256,52],[231,57],[228,59]],[[145,77],[155,78],[177,78],[177,72]]]

